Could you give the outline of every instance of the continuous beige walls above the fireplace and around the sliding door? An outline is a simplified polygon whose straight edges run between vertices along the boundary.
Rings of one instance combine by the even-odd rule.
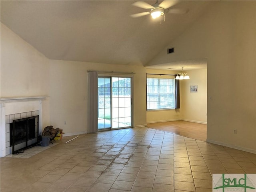
[[[146,125],[143,66],[49,60],[1,24],[1,97],[48,96],[43,100],[43,127],[60,127],[67,135],[87,132],[87,70],[135,72],[134,126]]]

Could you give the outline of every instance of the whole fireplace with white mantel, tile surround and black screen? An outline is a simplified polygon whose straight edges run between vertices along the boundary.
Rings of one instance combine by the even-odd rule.
[[[44,99],[46,99],[45,96],[0,98],[0,157],[12,154],[16,150],[21,150],[22,148],[38,142],[38,133],[42,132],[42,101]],[[37,116],[37,118],[30,122],[30,118],[34,118],[34,116]],[[10,129],[12,129],[13,125],[17,122],[19,126],[18,132],[21,132],[22,129],[24,132],[24,126],[22,128],[22,126],[19,125],[19,120],[22,119],[28,120],[28,124],[34,124],[35,122],[33,126],[34,130],[26,131],[28,138],[22,136],[24,133],[19,133],[19,136],[13,138],[13,136],[11,136],[13,131]],[[18,134],[18,132],[16,134]],[[14,150],[12,150],[13,146],[11,143],[13,140],[17,142],[14,144]]]

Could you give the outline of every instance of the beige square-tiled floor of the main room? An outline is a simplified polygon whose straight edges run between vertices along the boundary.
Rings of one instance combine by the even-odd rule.
[[[64,137],[1,158],[1,192],[212,192],[212,173],[256,173],[256,154],[151,128]]]

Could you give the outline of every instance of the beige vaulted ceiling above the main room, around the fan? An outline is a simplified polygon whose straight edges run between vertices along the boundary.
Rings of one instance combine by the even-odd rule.
[[[145,66],[214,3],[180,1],[172,8],[189,12],[168,13],[160,24],[150,15],[132,18],[146,11],[134,2],[1,0],[1,22],[49,59]]]

